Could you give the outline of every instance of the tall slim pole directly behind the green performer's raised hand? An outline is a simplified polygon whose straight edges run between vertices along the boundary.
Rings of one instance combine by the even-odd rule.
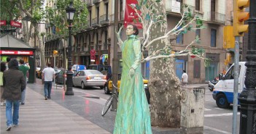
[[[116,28],[118,28],[118,0],[115,0],[115,25],[114,25],[114,58],[112,59],[112,63],[113,63],[113,73],[112,73],[112,77],[113,77],[113,90],[112,90],[112,94],[117,92],[117,70],[118,70],[118,59],[117,59],[117,37],[115,35],[115,30]],[[112,112],[117,112],[117,100],[113,99],[113,103],[112,103],[112,109],[110,109]]]

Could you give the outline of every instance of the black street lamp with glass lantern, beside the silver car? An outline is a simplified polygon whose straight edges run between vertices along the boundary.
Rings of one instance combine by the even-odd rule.
[[[74,96],[73,92],[73,72],[71,71],[72,67],[72,59],[71,59],[71,28],[72,28],[72,22],[74,17],[74,12],[76,12],[76,9],[73,7],[73,1],[70,1],[69,6],[66,7],[66,17],[69,22],[69,46],[68,46],[68,71],[66,72],[66,93],[67,96]]]

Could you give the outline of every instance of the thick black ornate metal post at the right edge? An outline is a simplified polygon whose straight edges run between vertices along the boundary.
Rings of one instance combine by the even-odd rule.
[[[256,134],[256,1],[249,1],[247,72],[238,100],[241,104],[240,134]]]

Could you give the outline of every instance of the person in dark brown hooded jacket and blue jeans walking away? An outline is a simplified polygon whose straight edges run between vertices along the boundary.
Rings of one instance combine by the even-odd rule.
[[[23,72],[19,70],[17,59],[11,59],[8,67],[9,70],[4,71],[3,75],[4,93],[2,97],[6,100],[7,130],[11,130],[12,126],[19,125],[20,98],[21,92],[26,87],[26,81]]]

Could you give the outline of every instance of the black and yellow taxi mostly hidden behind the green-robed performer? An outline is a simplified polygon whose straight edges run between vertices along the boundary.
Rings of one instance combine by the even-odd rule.
[[[106,85],[104,86],[104,93],[105,94],[109,94],[110,92],[112,92],[112,78],[109,79],[107,82],[106,82]],[[121,74],[118,74],[118,80],[117,80],[117,92],[120,91],[120,83],[121,83]],[[144,90],[145,90],[145,93],[146,93],[146,96],[147,96],[147,102],[148,104],[150,104],[150,91],[149,91],[149,88],[147,86],[147,83],[148,83],[148,80],[144,79],[143,78],[143,83],[144,83]]]

